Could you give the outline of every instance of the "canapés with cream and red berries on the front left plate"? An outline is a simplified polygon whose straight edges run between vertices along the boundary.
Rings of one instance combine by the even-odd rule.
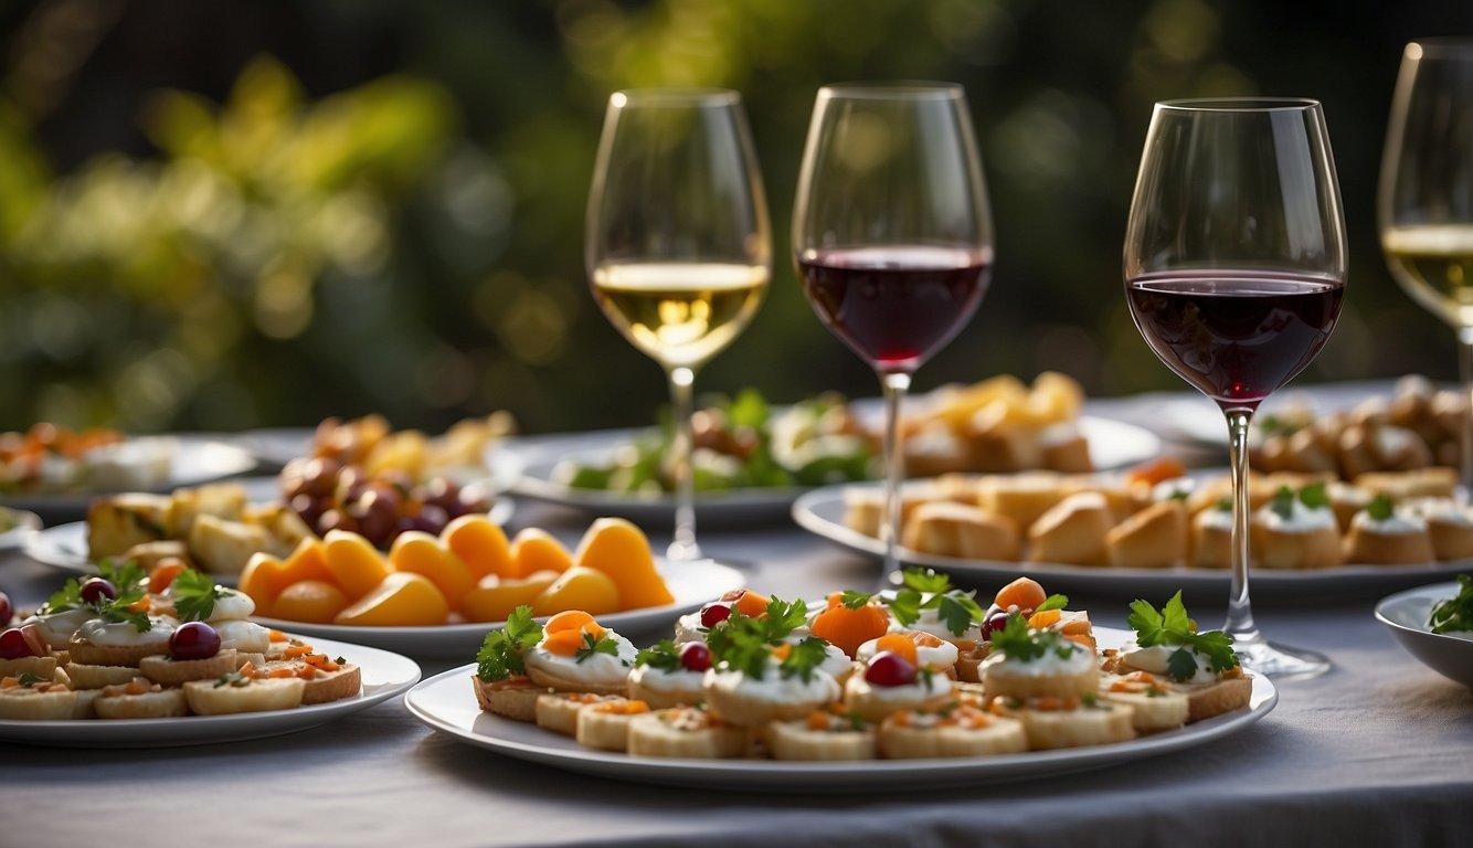
[[[258,713],[361,690],[348,658],[249,621],[250,598],[178,565],[109,562],[13,627],[3,612],[4,720]]]

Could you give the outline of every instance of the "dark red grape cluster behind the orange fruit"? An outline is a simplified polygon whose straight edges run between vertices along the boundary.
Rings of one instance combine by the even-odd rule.
[[[380,549],[405,530],[439,533],[452,518],[491,508],[491,498],[474,484],[445,476],[415,481],[399,470],[370,476],[330,456],[287,462],[281,495],[318,534],[352,530]]]

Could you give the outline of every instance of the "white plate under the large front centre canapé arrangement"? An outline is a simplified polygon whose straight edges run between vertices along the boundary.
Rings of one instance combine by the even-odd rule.
[[[1121,630],[1097,627],[1102,645],[1130,637]],[[1254,677],[1246,710],[1198,721],[1180,730],[1143,736],[1130,742],[1061,751],[1030,751],[999,757],[955,757],[935,760],[862,760],[848,763],[794,763],[773,760],[664,760],[630,757],[583,748],[572,738],[535,724],[482,713],[476,705],[468,664],[424,680],[405,695],[409,713],[426,726],[460,742],[486,748],[517,760],[530,760],[569,771],[617,780],[669,786],[703,786],[748,792],[851,792],[941,786],[977,786],[1027,777],[1086,771],[1158,757],[1205,745],[1236,733],[1267,716],[1279,693],[1265,677]]]

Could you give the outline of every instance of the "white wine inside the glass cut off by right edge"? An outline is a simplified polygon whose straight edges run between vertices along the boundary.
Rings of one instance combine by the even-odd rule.
[[[1413,299],[1454,328],[1473,327],[1473,224],[1395,227],[1382,249]]]

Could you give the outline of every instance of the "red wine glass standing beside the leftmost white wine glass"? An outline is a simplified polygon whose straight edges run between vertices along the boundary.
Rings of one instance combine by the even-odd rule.
[[[977,311],[993,264],[991,212],[962,87],[820,88],[798,175],[792,252],[819,319],[879,375],[879,537],[887,574],[894,574],[900,405],[916,368]]]

